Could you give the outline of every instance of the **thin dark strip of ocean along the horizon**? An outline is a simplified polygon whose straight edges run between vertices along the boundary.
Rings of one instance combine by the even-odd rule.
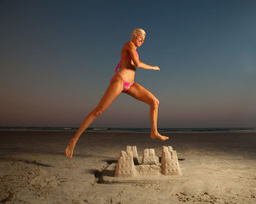
[[[78,127],[0,127],[0,131],[67,131]],[[150,133],[150,128],[89,127],[87,132]],[[158,128],[159,133],[256,133],[256,127]]]

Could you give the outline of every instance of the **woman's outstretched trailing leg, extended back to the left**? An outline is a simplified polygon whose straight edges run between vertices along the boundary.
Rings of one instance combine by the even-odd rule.
[[[91,113],[83,120],[83,123],[80,125],[77,133],[72,139],[69,141],[69,144],[66,148],[66,157],[71,158],[73,154],[73,150],[75,148],[75,144],[78,141],[80,135],[91,125],[91,122],[94,121],[103,111],[108,109],[108,106],[115,100],[115,98],[121,93],[123,90],[123,80],[120,77],[113,76],[106,90],[105,94],[103,95],[102,99],[99,101],[98,106],[91,111]]]

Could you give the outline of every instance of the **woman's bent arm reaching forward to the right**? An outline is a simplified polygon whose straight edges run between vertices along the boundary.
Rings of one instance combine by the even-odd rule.
[[[147,65],[146,63],[143,63],[140,61],[140,58],[138,57],[138,53],[136,52],[135,44],[133,42],[128,42],[127,49],[128,49],[129,55],[131,56],[132,62],[134,63],[135,67],[159,71],[158,66],[150,66],[150,65]]]

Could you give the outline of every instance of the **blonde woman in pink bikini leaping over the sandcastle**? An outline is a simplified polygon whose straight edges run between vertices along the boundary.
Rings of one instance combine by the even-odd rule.
[[[132,31],[132,40],[125,43],[121,50],[121,60],[118,66],[116,66],[116,74],[112,77],[110,85],[99,101],[98,106],[83,120],[78,132],[75,133],[75,136],[69,141],[66,149],[66,157],[72,158],[75,144],[80,135],[91,125],[94,119],[108,109],[108,106],[110,106],[115,98],[122,92],[150,105],[151,138],[159,138],[162,141],[168,139],[168,137],[161,136],[157,131],[159,101],[152,93],[146,90],[146,88],[134,82],[136,67],[159,71],[158,66],[149,66],[140,61],[137,48],[143,44],[145,37],[146,32],[143,31],[143,29],[136,28]],[[121,69],[117,71],[118,68]]]

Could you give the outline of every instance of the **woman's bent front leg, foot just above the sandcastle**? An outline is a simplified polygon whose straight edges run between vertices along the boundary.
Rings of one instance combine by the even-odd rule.
[[[157,115],[158,115],[158,99],[146,88],[134,83],[134,85],[127,91],[132,97],[148,103],[150,105],[150,120],[151,120],[151,138],[159,138],[162,141],[168,139],[168,137],[161,136],[157,131]]]

